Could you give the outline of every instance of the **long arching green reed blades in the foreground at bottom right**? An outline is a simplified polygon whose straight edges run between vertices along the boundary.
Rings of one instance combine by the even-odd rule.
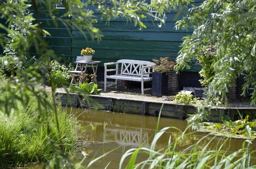
[[[161,112],[160,112],[161,113]],[[159,117],[160,117],[159,113]],[[159,123],[159,120],[158,120]],[[174,142],[171,142],[171,136],[168,142],[168,146],[156,150],[155,146],[158,139],[168,129],[176,129],[180,132],[180,137]],[[252,148],[253,144],[251,140],[246,140],[241,149],[230,152],[229,147],[224,148],[225,144],[228,144],[226,138],[222,143],[213,145],[211,139],[201,150],[198,149],[200,142],[205,137],[197,141],[194,145],[187,147],[184,150],[177,151],[177,144],[179,140],[183,140],[184,137],[191,133],[185,134],[176,127],[165,127],[158,131],[156,129],[155,137],[152,141],[151,147],[143,147],[141,145],[138,148],[133,148],[124,153],[121,157],[119,168],[123,168],[124,159],[129,158],[129,162],[126,169],[255,169],[256,157],[255,150]],[[209,147],[210,150],[209,150]],[[136,163],[136,158],[140,154],[147,154],[148,158],[145,161]]]

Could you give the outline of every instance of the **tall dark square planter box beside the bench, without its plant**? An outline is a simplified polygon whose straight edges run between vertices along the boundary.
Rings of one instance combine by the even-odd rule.
[[[152,96],[166,96],[168,93],[168,75],[166,73],[152,72]]]

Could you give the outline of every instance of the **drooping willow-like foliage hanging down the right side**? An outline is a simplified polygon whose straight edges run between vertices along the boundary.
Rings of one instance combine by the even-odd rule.
[[[178,2],[157,3],[160,9],[171,10],[171,4]],[[191,1],[186,4],[191,3]],[[164,5],[166,4],[166,5]],[[163,12],[163,11],[162,11]],[[226,93],[239,75],[244,75],[243,93],[252,89],[251,104],[256,103],[256,37],[255,37],[255,0],[207,0],[198,6],[188,8],[189,16],[176,22],[176,28],[188,30],[192,28],[192,35],[183,37],[182,49],[177,57],[175,70],[190,68],[189,63],[195,62],[202,49],[206,50],[208,44],[217,42],[214,57],[208,62],[211,64],[202,72],[204,84],[209,85],[208,97],[198,108],[198,114],[190,119],[190,123],[200,123],[208,114],[206,106],[214,106],[227,99]],[[163,13],[162,13],[163,14]],[[208,55],[210,57],[210,55]],[[207,57],[208,57],[207,56]],[[202,59],[202,61],[204,61]],[[202,62],[203,63],[203,62]],[[212,69],[212,70],[211,70]],[[207,72],[208,71],[208,72]],[[211,72],[213,76],[209,77]]]

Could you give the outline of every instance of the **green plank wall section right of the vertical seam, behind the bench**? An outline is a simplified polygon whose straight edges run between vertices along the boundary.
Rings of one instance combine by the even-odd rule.
[[[150,0],[148,0],[150,3]],[[195,4],[203,2],[197,0]],[[93,9],[93,7],[90,7]],[[94,25],[99,28],[104,37],[101,42],[92,40],[90,35],[87,34],[87,39],[84,38],[79,30],[72,28],[71,38],[71,58],[72,61],[76,60],[76,56],[80,55],[82,48],[90,47],[95,50],[93,55],[94,61],[102,61],[103,63],[114,62],[119,59],[135,59],[152,61],[154,58],[160,58],[173,55],[177,57],[180,50],[183,36],[191,34],[193,30],[175,30],[175,22],[185,14],[177,15],[177,11],[172,11],[166,14],[167,19],[165,25],[161,28],[158,27],[158,22],[155,25],[148,19],[144,22],[146,29],[140,30],[138,26],[134,27],[133,23],[126,22],[125,19],[116,18],[111,19],[110,23],[106,20],[100,21],[101,14],[94,10],[98,22]],[[174,18],[177,18],[174,20]],[[191,64],[193,67],[186,71],[199,72],[200,67]]]

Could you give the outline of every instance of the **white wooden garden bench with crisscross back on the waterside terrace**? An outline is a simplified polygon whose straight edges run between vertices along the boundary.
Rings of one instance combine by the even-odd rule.
[[[121,65],[121,73],[118,74],[118,64]],[[115,65],[115,69],[107,69],[107,66]],[[150,61],[138,61],[138,60],[128,60],[121,59],[117,62],[105,63],[105,73],[104,73],[104,91],[106,91],[107,86],[115,86],[117,89],[117,80],[132,80],[141,82],[141,94],[144,95],[144,91],[152,90],[152,88],[144,89],[145,81],[152,81],[152,77],[149,77],[154,69],[150,69],[155,66],[155,63]],[[152,70],[152,72],[151,72]],[[107,75],[107,72],[115,71],[115,75]],[[107,85],[107,78],[115,79],[115,84]]]

